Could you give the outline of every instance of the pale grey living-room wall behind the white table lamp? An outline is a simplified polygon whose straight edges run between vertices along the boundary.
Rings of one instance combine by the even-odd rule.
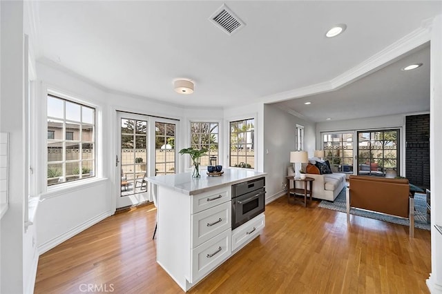
[[[264,106],[264,171],[269,173],[266,182],[266,202],[285,193],[284,184],[290,152],[296,150],[296,124],[304,126],[305,150],[309,157],[315,150],[315,124],[302,120],[273,105]],[[268,153],[267,153],[268,151]]]

